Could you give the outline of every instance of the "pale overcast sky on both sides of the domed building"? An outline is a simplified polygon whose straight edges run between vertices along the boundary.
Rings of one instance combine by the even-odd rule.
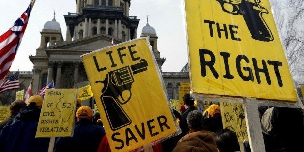
[[[2,35],[26,10],[30,0],[1,0],[0,3]],[[147,15],[149,25],[156,30],[158,50],[161,58],[166,58],[162,66],[163,72],[179,72],[188,62],[183,5],[183,0],[131,0],[129,15],[140,19],[137,37],[140,37],[142,28],[147,23]],[[40,46],[40,31],[47,21],[53,19],[54,10],[65,40],[66,25],[63,15],[67,15],[68,12],[76,13],[75,0],[36,0],[10,71],[33,69],[29,56],[36,54],[36,49]]]

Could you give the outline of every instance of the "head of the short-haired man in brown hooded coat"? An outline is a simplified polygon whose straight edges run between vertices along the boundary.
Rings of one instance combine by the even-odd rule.
[[[200,130],[203,128],[203,115],[198,110],[189,112],[187,116],[187,122],[190,129]]]

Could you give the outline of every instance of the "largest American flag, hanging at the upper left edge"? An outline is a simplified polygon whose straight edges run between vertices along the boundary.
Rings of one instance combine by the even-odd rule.
[[[15,55],[28,24],[31,7],[32,3],[30,3],[21,17],[15,21],[13,26],[0,36],[0,85],[2,85],[5,76],[10,70],[12,62],[15,59]]]

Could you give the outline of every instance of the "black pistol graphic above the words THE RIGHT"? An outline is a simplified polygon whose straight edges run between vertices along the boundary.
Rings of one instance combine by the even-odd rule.
[[[216,0],[224,12],[242,15],[248,26],[251,37],[259,41],[272,41],[273,35],[262,17],[269,12],[259,3],[260,0]]]

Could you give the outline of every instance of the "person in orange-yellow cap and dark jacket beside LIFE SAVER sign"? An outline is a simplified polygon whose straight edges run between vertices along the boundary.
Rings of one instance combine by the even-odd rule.
[[[73,137],[59,137],[54,152],[97,152],[105,130],[94,124],[92,109],[89,106],[79,107],[76,119]]]

